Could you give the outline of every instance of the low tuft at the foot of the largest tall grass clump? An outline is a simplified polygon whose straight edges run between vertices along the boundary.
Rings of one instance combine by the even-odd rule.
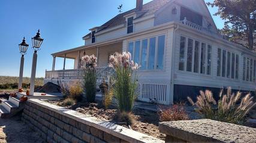
[[[114,114],[113,120],[116,122],[124,122],[127,124],[127,126],[134,124],[134,117],[131,113],[127,113],[125,111],[123,112],[116,112]]]

